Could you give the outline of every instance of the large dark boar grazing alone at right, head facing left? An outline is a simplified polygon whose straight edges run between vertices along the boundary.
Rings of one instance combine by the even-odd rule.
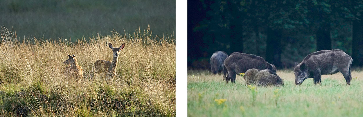
[[[307,78],[314,78],[314,84],[321,84],[321,75],[340,72],[350,85],[352,61],[352,57],[340,49],[311,53],[295,66],[295,84],[299,85]]]

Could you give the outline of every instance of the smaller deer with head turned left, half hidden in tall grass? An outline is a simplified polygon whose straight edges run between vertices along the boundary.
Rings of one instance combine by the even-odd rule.
[[[68,55],[69,59],[64,61],[65,65],[68,65],[65,69],[65,76],[69,78],[77,78],[79,81],[81,81],[83,77],[83,69],[82,66],[78,65],[78,61],[74,54],[72,56]]]

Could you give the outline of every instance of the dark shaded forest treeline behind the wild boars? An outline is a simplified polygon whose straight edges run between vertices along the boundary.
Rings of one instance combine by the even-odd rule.
[[[342,49],[363,65],[363,1],[188,1],[188,69],[215,51],[292,68],[310,53]]]

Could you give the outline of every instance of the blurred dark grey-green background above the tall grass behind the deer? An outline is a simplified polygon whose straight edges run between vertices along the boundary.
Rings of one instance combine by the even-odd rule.
[[[110,31],[174,35],[175,1],[0,1],[0,25],[14,29],[20,40],[69,39],[111,35]],[[124,30],[125,29],[125,30]]]

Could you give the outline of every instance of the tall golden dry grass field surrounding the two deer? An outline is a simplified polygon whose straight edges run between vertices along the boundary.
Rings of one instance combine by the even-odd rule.
[[[1,28],[0,116],[175,116],[175,38],[150,32],[19,42]],[[125,43],[113,82],[93,69],[98,59],[112,60],[107,42]],[[64,74],[73,53],[80,83]]]

